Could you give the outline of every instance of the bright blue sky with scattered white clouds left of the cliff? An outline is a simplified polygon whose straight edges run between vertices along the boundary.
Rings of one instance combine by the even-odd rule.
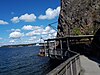
[[[60,0],[0,0],[0,10],[0,46],[38,43],[56,36],[48,24],[58,21]]]

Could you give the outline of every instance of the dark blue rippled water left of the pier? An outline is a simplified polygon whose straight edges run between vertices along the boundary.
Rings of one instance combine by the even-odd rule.
[[[37,56],[39,47],[0,48],[0,75],[45,75],[53,64]]]

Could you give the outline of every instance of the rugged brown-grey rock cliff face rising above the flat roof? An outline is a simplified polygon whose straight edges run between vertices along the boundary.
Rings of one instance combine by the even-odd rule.
[[[100,27],[100,0],[61,0],[58,37],[94,34]]]

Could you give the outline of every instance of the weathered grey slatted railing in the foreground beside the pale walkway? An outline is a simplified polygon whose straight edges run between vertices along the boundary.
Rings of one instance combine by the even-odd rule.
[[[81,72],[80,55],[74,55],[47,75],[79,75]]]

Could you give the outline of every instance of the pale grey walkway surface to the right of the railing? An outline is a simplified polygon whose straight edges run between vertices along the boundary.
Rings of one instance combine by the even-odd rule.
[[[83,75],[100,75],[100,67],[98,63],[88,59],[85,56],[80,56],[81,66],[84,69]]]

